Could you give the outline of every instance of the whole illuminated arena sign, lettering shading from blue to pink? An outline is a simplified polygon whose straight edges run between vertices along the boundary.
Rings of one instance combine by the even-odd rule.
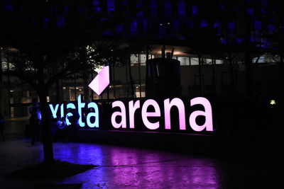
[[[207,98],[197,97],[190,101],[180,98],[114,101],[109,111],[103,111],[97,103],[84,103],[78,96],[77,103],[50,104],[53,118],[70,118],[78,113],[78,123],[85,129],[143,130],[143,131],[213,131],[212,106]],[[102,119],[104,118],[104,119]]]

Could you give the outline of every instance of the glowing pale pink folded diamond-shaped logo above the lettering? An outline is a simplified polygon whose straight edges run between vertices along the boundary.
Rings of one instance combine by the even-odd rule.
[[[105,88],[109,86],[109,66],[104,67],[99,74],[93,79],[93,81],[89,84],[89,88],[100,95]]]

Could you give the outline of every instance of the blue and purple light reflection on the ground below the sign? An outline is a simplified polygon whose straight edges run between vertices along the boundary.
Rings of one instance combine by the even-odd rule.
[[[219,188],[219,174],[210,159],[97,144],[63,146],[55,144],[62,147],[56,159],[99,166],[63,183],[84,183],[83,188]]]

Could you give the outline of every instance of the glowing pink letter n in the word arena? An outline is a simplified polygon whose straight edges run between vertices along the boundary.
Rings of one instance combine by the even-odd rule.
[[[178,108],[178,118],[180,120],[180,130],[185,130],[185,105],[180,100],[180,98],[173,98],[172,101],[170,101],[170,98],[165,99],[164,101],[164,107],[165,107],[165,129],[170,130],[170,108],[175,105]]]

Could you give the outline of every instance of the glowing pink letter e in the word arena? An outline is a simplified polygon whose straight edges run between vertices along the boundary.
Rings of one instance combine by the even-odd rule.
[[[148,106],[152,105],[155,109],[155,112],[147,112]],[[153,99],[149,99],[145,101],[145,103],[142,106],[142,120],[144,125],[149,130],[156,130],[158,127],[160,127],[160,122],[149,122],[148,117],[160,117],[160,107],[156,101]]]

